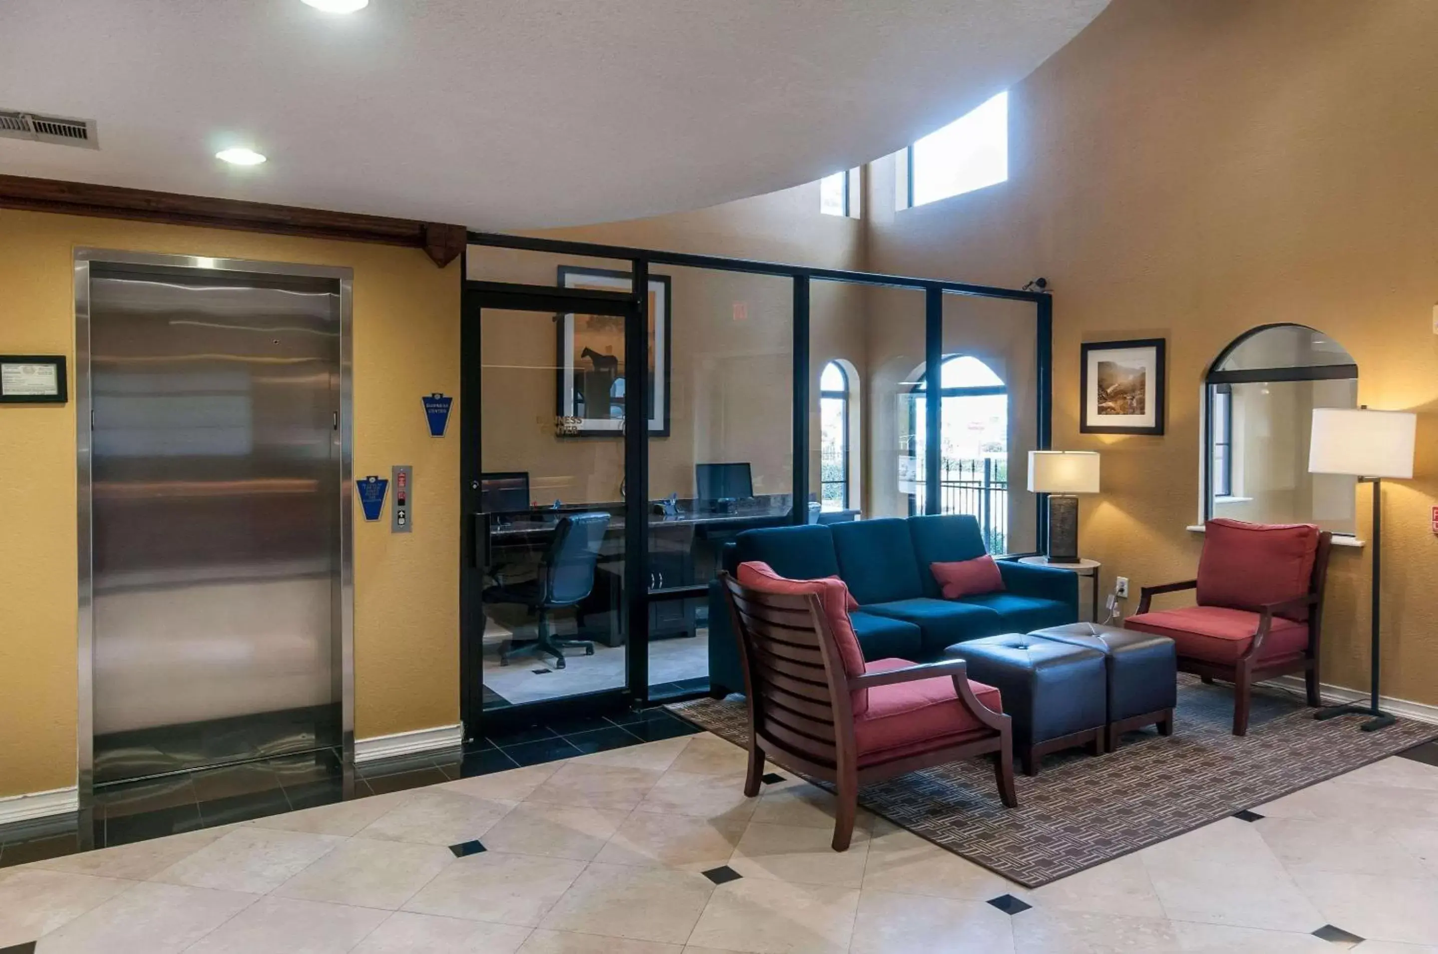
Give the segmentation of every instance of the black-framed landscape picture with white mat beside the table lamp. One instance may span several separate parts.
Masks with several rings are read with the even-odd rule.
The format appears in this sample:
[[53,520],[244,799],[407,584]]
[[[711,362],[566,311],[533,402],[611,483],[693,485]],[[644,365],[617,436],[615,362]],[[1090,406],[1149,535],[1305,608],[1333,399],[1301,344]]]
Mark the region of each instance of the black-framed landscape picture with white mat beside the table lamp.
[[1163,346],[1162,338],[1081,345],[1081,434],[1163,434]]

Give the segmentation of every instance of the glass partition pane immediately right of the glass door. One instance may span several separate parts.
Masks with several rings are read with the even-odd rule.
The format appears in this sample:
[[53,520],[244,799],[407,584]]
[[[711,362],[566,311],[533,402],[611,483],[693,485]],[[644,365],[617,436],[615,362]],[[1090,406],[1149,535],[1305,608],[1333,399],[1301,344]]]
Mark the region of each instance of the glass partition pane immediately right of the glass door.
[[791,523],[794,282],[654,266],[673,309],[666,427],[649,434],[649,697],[709,688],[723,545]]

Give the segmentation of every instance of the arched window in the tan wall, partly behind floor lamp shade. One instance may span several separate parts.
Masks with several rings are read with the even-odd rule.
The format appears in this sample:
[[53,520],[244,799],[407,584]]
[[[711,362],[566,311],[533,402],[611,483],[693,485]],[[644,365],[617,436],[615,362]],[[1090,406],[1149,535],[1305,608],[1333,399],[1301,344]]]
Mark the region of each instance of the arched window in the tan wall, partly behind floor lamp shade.
[[1353,533],[1353,477],[1309,473],[1313,408],[1357,407],[1357,363],[1306,325],[1234,339],[1204,384],[1204,517]]

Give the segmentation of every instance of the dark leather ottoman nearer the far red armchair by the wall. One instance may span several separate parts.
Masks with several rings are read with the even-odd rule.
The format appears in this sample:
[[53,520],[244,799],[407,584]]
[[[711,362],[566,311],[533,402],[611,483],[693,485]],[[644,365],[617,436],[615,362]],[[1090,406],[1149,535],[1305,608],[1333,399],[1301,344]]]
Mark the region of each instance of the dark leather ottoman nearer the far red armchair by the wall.
[[1094,622],[1035,629],[1031,635],[1097,649],[1109,658],[1109,751],[1119,747],[1119,736],[1135,728],[1156,724],[1160,736],[1173,733],[1178,659],[1172,639]]

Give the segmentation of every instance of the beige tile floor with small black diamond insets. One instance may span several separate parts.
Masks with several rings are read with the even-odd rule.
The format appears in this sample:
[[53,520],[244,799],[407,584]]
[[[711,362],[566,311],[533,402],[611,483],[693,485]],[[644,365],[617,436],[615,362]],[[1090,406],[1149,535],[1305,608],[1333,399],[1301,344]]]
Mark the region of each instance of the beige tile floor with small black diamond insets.
[[[689,736],[0,869],[0,948],[1438,954],[1438,767],[1416,761],[1034,891],[867,813],[835,855],[825,793],[745,799],[742,772]],[[454,858],[467,839],[487,851]],[[716,886],[720,865],[742,878]]]

